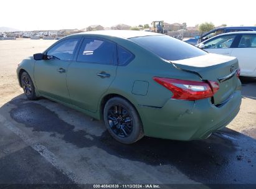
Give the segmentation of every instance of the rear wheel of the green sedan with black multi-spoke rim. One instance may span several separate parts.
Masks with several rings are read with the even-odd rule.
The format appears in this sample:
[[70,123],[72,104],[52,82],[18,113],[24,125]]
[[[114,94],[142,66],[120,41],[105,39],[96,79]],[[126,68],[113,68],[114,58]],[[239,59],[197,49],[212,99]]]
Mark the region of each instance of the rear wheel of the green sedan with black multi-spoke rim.
[[139,114],[123,98],[109,99],[104,107],[103,118],[108,132],[118,142],[132,144],[144,136]]

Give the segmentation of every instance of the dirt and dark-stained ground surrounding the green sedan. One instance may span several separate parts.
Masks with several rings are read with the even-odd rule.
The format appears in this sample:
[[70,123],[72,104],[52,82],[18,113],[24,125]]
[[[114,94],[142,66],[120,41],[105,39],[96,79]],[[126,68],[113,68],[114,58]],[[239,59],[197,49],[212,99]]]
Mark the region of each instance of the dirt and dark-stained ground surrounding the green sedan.
[[242,78],[240,113],[209,139],[123,145],[100,121],[48,99],[27,101],[17,63],[54,42],[0,41],[0,184],[256,184],[256,80]]

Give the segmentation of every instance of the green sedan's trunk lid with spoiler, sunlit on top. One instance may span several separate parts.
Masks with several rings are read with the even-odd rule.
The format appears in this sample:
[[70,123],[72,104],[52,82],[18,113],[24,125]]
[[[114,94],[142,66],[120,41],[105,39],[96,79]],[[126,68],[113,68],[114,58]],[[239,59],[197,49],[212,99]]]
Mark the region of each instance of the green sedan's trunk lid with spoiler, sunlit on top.
[[219,91],[214,94],[214,104],[221,104],[237,87],[236,70],[239,69],[237,58],[223,55],[207,54],[184,60],[171,61],[174,67],[195,73],[202,80],[219,83]]

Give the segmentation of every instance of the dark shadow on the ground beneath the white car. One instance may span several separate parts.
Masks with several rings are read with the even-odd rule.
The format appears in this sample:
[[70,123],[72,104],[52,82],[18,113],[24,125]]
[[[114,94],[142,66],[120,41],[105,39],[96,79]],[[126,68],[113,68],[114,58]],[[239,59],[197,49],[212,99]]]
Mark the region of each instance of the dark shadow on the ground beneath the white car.
[[242,96],[256,99],[256,78],[240,76],[240,81],[242,83]]

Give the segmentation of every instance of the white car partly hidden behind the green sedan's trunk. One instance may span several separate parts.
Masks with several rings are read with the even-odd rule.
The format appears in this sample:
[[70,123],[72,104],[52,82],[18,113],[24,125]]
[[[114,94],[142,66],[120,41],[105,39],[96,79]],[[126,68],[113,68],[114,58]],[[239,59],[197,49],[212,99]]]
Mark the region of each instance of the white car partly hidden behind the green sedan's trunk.
[[256,77],[256,32],[231,32],[205,40],[196,47],[210,53],[237,57],[240,76]]

